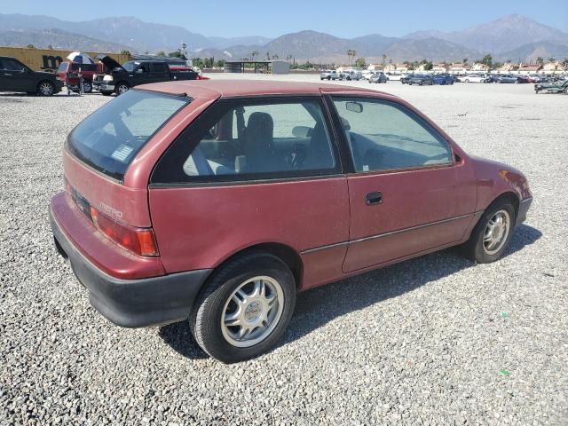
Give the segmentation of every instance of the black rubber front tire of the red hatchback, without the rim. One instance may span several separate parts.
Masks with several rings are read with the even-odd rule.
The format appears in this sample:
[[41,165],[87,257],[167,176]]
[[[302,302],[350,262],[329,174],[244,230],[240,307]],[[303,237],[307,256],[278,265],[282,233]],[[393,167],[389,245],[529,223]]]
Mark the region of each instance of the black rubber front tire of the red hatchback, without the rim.
[[[501,215],[508,221],[506,234],[501,235],[501,240],[496,243],[494,247],[487,247],[490,242],[485,241],[487,237],[490,221],[495,217]],[[461,255],[471,260],[476,261],[478,264],[490,264],[498,260],[503,252],[509,246],[509,242],[515,230],[515,208],[506,200],[497,200],[485,209],[482,217],[479,218],[476,227],[471,232],[469,241],[461,246]],[[499,233],[499,230],[498,230]],[[491,235],[491,234],[490,234]]]

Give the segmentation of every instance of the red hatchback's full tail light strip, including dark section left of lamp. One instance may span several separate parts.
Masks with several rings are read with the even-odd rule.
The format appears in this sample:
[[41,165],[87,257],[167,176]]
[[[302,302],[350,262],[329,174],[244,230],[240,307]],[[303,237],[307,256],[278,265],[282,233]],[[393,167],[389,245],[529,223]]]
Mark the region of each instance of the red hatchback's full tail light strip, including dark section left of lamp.
[[64,185],[67,193],[69,193],[73,201],[75,201],[75,205],[81,209],[85,216],[91,219],[93,225],[109,239],[139,256],[160,256],[152,228],[136,228],[117,222],[112,217],[108,217],[98,209],[92,207],[89,201],[83,198],[83,195],[77,193],[75,188],[69,185],[67,179],[65,179]]

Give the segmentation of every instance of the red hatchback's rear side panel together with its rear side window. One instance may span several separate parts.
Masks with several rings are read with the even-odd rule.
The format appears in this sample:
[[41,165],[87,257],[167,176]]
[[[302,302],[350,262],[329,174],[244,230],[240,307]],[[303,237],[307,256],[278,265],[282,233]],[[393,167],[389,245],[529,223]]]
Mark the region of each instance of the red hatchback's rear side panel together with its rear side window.
[[151,177],[166,270],[212,267],[243,248],[278,244],[302,256],[311,285],[340,277],[349,194],[333,135],[321,96],[209,106]]

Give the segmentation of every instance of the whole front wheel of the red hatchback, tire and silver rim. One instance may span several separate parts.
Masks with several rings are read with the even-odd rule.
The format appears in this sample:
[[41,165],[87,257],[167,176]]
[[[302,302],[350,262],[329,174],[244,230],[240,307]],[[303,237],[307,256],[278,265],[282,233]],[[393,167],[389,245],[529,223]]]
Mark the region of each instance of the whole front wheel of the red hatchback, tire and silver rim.
[[509,201],[493,202],[477,222],[469,241],[461,247],[463,256],[478,264],[498,260],[509,246],[515,218],[515,208]]

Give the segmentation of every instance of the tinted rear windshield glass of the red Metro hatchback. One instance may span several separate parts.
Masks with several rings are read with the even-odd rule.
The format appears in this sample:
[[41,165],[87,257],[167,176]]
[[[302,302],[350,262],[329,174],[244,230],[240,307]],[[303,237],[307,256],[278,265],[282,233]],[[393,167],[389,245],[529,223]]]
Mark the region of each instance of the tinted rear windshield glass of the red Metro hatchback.
[[138,151],[190,99],[150,91],[127,91],[81,122],[67,139],[79,160],[122,180]]

